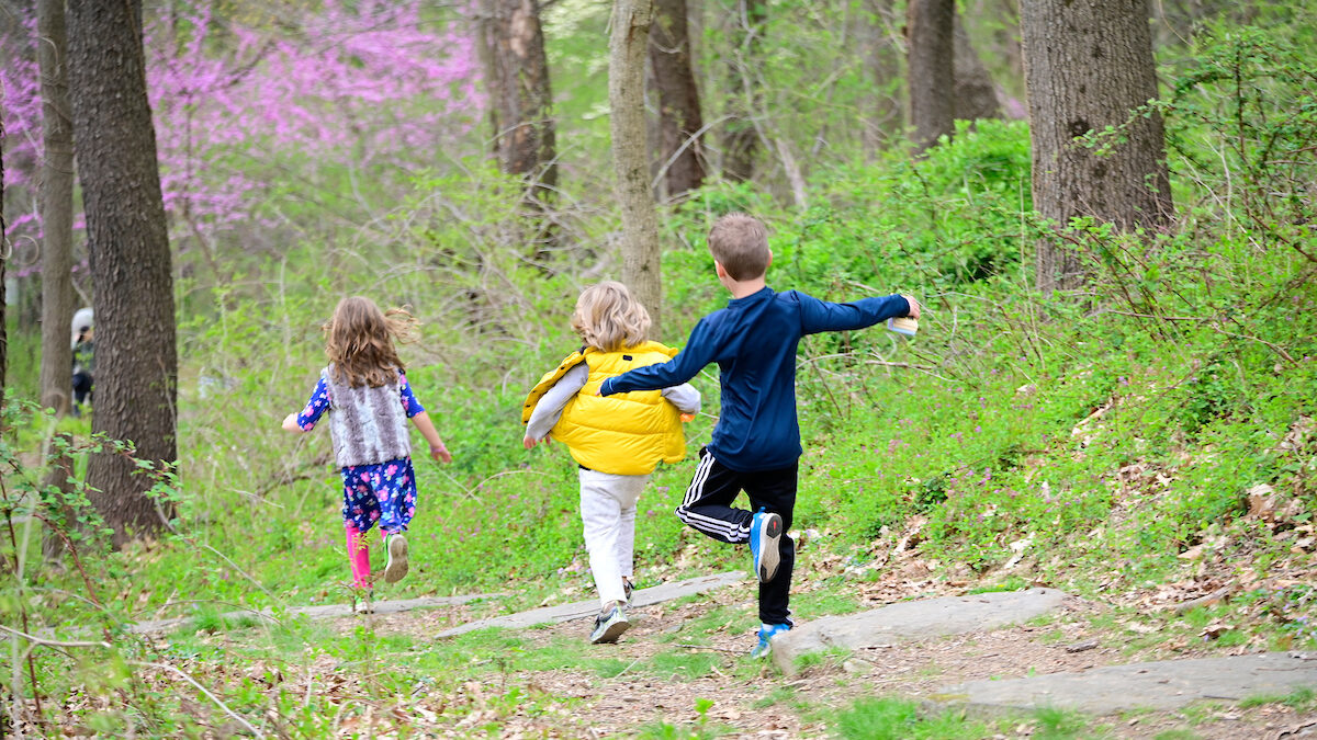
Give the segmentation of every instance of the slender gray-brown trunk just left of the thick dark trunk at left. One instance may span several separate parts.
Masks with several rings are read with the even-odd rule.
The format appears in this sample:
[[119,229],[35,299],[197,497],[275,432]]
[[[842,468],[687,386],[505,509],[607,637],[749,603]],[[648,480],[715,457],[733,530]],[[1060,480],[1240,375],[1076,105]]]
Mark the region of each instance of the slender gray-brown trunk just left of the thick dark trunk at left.
[[68,413],[72,395],[74,133],[68,117],[65,0],[37,3],[41,66],[41,404]]

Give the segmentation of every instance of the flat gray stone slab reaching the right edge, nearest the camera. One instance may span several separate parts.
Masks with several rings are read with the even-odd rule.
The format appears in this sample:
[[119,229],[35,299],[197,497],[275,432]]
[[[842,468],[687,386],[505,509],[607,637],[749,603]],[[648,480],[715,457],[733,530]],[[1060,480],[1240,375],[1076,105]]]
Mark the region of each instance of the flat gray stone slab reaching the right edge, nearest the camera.
[[1191,702],[1239,702],[1317,689],[1317,653],[1260,653],[1158,661],[1006,681],[969,681],[931,697],[973,710],[1076,710],[1094,715],[1173,710]]

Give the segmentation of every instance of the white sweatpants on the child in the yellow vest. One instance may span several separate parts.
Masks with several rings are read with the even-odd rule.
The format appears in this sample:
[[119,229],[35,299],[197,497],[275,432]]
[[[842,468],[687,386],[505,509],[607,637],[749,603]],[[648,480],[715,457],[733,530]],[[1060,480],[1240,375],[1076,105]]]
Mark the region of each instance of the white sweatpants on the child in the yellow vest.
[[649,475],[614,475],[581,469],[581,523],[599,606],[626,600],[636,541],[636,502]]

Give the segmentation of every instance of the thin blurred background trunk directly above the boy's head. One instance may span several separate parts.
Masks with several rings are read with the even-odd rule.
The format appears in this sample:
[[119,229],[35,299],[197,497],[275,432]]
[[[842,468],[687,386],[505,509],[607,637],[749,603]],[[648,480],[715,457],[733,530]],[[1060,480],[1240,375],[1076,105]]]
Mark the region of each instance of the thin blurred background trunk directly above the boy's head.
[[738,28],[744,34],[731,54],[727,124],[723,126],[723,176],[743,183],[755,174],[759,130],[755,116],[763,108],[756,70],[768,9],[764,0],[738,0]]

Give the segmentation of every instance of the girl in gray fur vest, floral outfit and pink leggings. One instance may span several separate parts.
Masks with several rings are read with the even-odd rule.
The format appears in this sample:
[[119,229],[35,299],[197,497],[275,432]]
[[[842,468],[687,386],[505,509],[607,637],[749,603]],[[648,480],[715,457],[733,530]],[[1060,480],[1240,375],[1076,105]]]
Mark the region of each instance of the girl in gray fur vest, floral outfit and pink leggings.
[[416,514],[416,473],[411,461],[407,419],[429,442],[435,461],[452,462],[435,424],[412,395],[394,340],[408,341],[416,320],[402,308],[382,312],[367,298],[338,302],[325,325],[329,365],[300,413],[290,413],[283,428],[309,432],[329,412],[329,437],[342,467],[342,521],[348,565],[357,593],[366,591],[370,606],[370,548],[366,532],[375,524],[389,562],[385,582],[394,583],[408,570],[407,532]]

